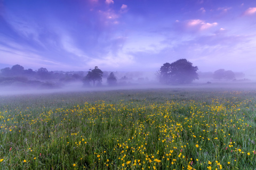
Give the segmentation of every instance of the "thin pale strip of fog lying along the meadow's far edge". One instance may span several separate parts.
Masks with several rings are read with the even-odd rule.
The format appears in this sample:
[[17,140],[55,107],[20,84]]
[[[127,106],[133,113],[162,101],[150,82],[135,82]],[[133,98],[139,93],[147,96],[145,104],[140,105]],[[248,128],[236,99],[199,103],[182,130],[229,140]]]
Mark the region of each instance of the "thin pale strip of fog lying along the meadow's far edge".
[[79,92],[79,91],[104,91],[104,90],[132,90],[132,89],[230,89],[230,90],[256,90],[255,81],[234,82],[234,81],[202,81],[197,80],[190,84],[164,85],[159,82],[130,83],[122,86],[84,87],[82,82],[67,83],[58,88],[33,88],[33,87],[0,87],[0,96],[22,95],[22,94],[51,94],[58,92]]

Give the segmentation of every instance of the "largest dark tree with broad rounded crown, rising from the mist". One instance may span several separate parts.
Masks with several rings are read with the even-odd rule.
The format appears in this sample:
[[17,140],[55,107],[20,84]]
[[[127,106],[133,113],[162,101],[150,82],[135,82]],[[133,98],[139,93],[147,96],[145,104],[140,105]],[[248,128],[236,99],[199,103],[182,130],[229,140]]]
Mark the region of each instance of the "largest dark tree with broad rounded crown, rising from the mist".
[[165,63],[158,71],[159,81],[165,84],[185,84],[198,79],[197,66],[186,59]]

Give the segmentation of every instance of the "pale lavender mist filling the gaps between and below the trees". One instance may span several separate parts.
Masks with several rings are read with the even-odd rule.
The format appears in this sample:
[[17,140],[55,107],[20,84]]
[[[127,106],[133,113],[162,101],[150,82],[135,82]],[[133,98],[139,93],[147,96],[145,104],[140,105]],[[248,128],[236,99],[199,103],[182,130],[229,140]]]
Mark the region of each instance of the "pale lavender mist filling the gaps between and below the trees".
[[[162,84],[158,81],[155,72],[114,72],[117,78],[115,86],[107,84],[107,78],[102,78],[100,86],[85,87],[82,81],[61,82],[60,80],[37,80],[42,84],[35,86],[13,83],[10,86],[0,86],[0,96],[15,96],[28,94],[53,94],[65,92],[90,92],[90,91],[110,91],[110,90],[143,90],[143,89],[205,89],[205,90],[252,90],[256,87],[255,77],[243,77],[236,80],[214,80],[212,76],[207,77],[204,73],[199,73],[199,79],[189,84]],[[212,75],[212,73],[205,73]],[[201,78],[200,78],[201,75]],[[202,76],[203,75],[203,76]],[[125,77],[125,79],[124,79]],[[46,85],[47,86],[46,86]],[[49,85],[50,84],[50,85]],[[57,84],[57,85],[56,85]]]

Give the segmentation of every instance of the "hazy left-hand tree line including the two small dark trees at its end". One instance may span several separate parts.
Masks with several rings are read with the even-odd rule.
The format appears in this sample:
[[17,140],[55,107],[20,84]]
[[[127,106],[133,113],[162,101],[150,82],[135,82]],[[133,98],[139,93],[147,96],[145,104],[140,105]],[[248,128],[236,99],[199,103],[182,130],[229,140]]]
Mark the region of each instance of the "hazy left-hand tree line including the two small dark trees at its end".
[[[95,66],[89,72],[63,72],[63,71],[48,71],[41,67],[38,70],[27,69],[16,64],[12,67],[5,67],[0,70],[0,86],[40,86],[45,88],[59,88],[63,83],[83,81],[84,86],[100,86],[102,82],[103,72]],[[86,75],[87,73],[87,75]],[[105,72],[106,74],[106,72]],[[105,75],[106,77],[106,75]],[[113,72],[107,77],[109,86],[116,86],[117,79]]]

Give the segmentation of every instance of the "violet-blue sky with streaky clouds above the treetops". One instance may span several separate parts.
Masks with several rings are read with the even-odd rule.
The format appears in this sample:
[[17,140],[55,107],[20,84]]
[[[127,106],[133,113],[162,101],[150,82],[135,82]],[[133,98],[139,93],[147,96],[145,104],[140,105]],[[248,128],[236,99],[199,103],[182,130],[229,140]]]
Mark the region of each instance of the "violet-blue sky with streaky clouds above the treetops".
[[[0,0],[0,68],[255,71],[255,0]],[[256,71],[255,71],[256,72]]]

